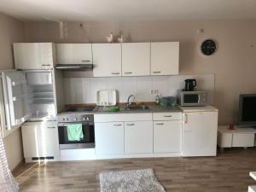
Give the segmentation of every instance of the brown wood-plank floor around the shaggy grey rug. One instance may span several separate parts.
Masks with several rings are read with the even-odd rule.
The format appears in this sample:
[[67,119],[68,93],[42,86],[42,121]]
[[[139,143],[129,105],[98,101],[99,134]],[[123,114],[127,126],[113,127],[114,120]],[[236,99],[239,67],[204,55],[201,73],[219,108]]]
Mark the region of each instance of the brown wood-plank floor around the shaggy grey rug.
[[248,185],[256,184],[249,177],[249,172],[256,171],[256,148],[230,149],[207,158],[69,161],[33,167],[25,164],[15,177],[23,192],[97,192],[100,172],[144,168],[154,169],[166,192],[246,192]]

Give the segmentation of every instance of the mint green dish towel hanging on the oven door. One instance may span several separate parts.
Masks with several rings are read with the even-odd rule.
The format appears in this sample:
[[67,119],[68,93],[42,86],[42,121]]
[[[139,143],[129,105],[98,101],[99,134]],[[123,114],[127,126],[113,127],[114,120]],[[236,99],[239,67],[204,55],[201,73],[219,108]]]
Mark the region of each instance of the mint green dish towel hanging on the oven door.
[[67,125],[67,138],[69,142],[80,141],[84,138],[82,124]]

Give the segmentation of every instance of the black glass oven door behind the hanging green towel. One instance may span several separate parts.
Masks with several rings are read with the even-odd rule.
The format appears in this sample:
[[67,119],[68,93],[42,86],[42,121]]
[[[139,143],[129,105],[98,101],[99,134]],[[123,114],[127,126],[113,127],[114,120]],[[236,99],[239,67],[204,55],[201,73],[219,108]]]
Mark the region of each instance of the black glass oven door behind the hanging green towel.
[[[95,132],[93,123],[81,123],[84,137],[79,141],[70,141],[67,136],[67,125],[72,123],[59,123],[59,144],[60,149],[74,148],[95,148]],[[75,124],[79,124],[76,122]]]

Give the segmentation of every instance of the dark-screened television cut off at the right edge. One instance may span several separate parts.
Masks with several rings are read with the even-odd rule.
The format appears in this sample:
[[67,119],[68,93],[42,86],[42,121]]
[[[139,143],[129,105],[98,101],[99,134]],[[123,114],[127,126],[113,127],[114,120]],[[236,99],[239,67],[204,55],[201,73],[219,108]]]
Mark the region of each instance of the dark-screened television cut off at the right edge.
[[238,126],[256,127],[256,94],[240,95]]

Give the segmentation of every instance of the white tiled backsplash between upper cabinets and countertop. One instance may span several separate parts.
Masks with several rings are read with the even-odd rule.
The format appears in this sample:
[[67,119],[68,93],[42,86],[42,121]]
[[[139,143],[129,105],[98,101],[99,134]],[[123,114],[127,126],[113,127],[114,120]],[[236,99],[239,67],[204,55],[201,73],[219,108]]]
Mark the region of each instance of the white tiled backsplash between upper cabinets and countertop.
[[95,103],[97,90],[117,90],[118,102],[126,102],[128,96],[136,96],[137,102],[154,102],[158,90],[160,96],[177,96],[183,89],[184,79],[196,79],[198,90],[208,91],[208,102],[213,102],[214,75],[175,75],[115,78],[65,78],[65,100],[67,104]]

